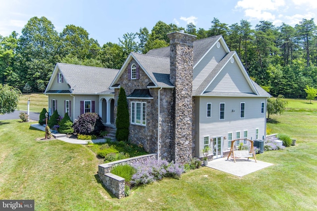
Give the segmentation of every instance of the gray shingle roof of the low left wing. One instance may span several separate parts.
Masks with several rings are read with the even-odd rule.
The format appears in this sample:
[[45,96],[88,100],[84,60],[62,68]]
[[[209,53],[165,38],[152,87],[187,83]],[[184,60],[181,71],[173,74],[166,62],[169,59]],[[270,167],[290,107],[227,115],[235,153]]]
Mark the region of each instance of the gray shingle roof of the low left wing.
[[[74,94],[111,93],[109,86],[119,70],[57,63]],[[110,91],[110,92],[108,92]]]

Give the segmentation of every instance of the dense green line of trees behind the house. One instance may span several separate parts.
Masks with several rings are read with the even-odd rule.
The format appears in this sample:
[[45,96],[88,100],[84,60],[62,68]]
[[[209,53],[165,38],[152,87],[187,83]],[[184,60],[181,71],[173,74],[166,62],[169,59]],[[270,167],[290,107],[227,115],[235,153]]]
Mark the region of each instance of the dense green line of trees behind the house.
[[184,30],[197,39],[222,35],[235,50],[250,77],[273,96],[305,98],[305,87],[317,87],[317,27],[303,19],[294,27],[247,20],[228,25],[217,18],[209,29],[192,23],[186,28],[158,21],[151,32],[126,33],[118,43],[101,46],[82,27],[66,25],[58,33],[46,17],[32,17],[22,29],[0,35],[0,84],[20,90],[43,91],[56,62],[120,69],[131,51],[146,53],[169,45],[167,33]]

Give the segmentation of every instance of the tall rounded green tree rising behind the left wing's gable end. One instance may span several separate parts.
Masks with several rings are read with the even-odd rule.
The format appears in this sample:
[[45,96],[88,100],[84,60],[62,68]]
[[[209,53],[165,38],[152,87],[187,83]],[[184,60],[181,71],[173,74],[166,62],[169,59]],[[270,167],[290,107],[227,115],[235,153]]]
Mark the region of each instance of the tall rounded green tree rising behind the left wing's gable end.
[[54,25],[46,17],[33,17],[28,21],[18,40],[22,84],[28,82],[34,88],[37,80],[48,83],[56,63],[58,39]]

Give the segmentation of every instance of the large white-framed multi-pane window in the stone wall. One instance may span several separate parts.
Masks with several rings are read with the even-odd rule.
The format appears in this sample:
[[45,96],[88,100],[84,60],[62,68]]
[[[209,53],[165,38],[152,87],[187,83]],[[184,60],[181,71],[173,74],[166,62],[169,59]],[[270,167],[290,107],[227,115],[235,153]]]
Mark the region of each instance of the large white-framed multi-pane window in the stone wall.
[[131,124],[146,126],[147,123],[147,103],[131,102]]

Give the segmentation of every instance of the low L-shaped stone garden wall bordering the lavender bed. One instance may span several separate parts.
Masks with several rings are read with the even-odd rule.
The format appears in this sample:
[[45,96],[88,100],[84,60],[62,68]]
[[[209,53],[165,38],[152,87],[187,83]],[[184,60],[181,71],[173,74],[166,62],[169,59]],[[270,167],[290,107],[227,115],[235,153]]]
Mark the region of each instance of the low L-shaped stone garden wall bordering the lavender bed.
[[113,166],[123,164],[133,164],[149,158],[157,159],[157,154],[141,155],[134,158],[127,158],[119,161],[113,161],[98,166],[98,175],[105,187],[111,191],[117,198],[121,199],[124,197],[124,185],[125,179],[110,173]]

